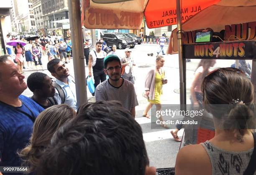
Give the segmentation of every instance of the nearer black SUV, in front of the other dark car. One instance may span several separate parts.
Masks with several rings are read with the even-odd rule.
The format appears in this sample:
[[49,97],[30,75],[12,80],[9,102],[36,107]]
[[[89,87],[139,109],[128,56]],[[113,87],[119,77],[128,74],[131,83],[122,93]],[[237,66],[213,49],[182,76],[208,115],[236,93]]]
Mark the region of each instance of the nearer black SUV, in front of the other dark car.
[[123,33],[104,33],[103,40],[108,46],[116,45],[118,49],[124,49],[126,47],[134,48],[136,43],[133,39],[126,37]]

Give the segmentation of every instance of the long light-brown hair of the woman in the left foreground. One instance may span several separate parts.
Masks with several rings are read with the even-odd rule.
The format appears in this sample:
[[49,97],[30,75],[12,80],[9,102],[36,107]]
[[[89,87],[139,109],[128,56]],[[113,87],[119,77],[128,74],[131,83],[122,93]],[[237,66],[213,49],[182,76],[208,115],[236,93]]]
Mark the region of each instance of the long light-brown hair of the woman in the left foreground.
[[71,120],[76,112],[69,105],[54,105],[38,115],[33,126],[29,145],[20,151],[22,166],[28,166],[28,173],[36,174],[41,156],[48,147],[54,132],[64,123]]

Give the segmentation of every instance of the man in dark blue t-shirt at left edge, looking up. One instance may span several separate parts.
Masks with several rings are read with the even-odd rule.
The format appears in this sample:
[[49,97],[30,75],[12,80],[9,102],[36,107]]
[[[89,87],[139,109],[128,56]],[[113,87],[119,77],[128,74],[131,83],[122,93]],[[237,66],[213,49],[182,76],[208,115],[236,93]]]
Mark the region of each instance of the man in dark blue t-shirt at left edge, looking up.
[[28,144],[33,122],[44,108],[21,95],[27,88],[25,77],[8,57],[0,56],[0,166],[20,166],[17,152]]

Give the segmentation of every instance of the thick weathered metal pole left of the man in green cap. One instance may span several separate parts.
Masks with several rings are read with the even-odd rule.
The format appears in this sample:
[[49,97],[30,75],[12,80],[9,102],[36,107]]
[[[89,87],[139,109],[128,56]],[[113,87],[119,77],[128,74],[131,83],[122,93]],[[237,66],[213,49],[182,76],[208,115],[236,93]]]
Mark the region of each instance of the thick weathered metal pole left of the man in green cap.
[[82,41],[82,26],[80,13],[80,0],[68,0],[69,23],[73,47],[73,65],[76,82],[77,106],[87,102],[85,82],[84,47]]

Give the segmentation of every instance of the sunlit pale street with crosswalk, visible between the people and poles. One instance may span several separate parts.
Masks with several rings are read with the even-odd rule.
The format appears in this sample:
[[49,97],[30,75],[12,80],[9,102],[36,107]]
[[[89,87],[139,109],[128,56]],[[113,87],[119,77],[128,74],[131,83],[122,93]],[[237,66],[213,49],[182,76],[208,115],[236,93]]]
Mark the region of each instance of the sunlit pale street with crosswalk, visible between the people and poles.
[[[164,46],[166,51],[167,45]],[[146,144],[148,157],[151,166],[156,168],[170,168],[174,167],[176,156],[179,150],[180,143],[175,142],[170,134],[171,129],[151,129],[151,119],[142,117],[143,110],[148,104],[147,100],[142,96],[144,90],[145,77],[149,70],[154,69],[156,52],[159,50],[159,45],[154,44],[141,44],[136,45],[135,48],[131,49],[131,57],[133,57],[136,66],[134,67],[135,72],[135,90],[137,93],[137,98],[139,106],[136,107],[136,121],[141,125],[143,130],[143,139]],[[124,50],[117,50],[118,54],[124,54]],[[154,56],[148,56],[147,53],[153,53]],[[163,69],[166,71],[166,79],[168,83],[163,85],[163,95],[161,97],[162,104],[179,104],[179,62],[178,55],[164,55],[165,64]],[[42,58],[44,73],[51,74],[46,68],[48,62],[47,57]],[[192,83],[194,77],[194,71],[197,68],[198,62],[200,60],[192,60],[187,62],[187,104],[190,103],[190,92],[189,87]],[[217,60],[215,67],[230,67],[234,60]],[[250,64],[251,62],[248,61]],[[67,64],[71,75],[74,75],[73,62]],[[25,69],[24,74],[26,79],[32,73],[35,72],[31,69]],[[41,71],[41,70],[40,70]],[[88,75],[88,67],[85,67],[86,75]],[[31,96],[32,92],[26,89],[23,95]],[[88,97],[92,97],[87,88]],[[150,115],[150,114],[149,114]],[[179,131],[178,136],[181,138],[183,130]],[[183,144],[182,144],[183,145]]]

